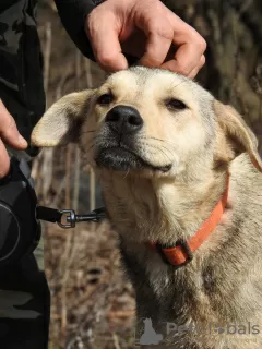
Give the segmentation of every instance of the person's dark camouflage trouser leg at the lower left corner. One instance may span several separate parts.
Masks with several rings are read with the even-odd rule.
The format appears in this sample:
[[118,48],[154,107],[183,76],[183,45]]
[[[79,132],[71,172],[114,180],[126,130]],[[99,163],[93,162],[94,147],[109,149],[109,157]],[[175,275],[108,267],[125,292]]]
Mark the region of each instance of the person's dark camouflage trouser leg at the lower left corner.
[[0,275],[1,349],[47,349],[50,296],[43,239],[20,265]]

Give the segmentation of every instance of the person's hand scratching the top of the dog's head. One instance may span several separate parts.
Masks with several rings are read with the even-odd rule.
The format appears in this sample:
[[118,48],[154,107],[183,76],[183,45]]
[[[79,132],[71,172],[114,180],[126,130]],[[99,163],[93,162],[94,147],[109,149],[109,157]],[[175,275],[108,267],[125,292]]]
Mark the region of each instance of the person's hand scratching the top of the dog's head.
[[106,71],[127,69],[124,53],[189,77],[205,63],[205,40],[159,0],[107,0],[87,16],[85,29]]

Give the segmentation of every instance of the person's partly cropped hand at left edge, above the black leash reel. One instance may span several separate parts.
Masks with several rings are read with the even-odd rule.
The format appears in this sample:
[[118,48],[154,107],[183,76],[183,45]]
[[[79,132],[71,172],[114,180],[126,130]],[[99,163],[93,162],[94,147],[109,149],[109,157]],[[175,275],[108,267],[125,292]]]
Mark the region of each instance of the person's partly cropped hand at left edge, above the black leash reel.
[[25,149],[27,142],[19,133],[14,119],[0,99],[0,178],[9,172],[10,159],[4,143],[15,149]]

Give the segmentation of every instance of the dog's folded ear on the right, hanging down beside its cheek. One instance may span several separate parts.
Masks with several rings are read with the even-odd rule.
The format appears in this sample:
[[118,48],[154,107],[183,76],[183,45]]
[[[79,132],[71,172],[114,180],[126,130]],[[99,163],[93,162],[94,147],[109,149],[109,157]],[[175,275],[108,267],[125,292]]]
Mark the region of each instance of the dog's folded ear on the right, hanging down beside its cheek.
[[258,140],[242,117],[231,106],[214,101],[214,111],[218,125],[234,153],[234,157],[247,152],[252,164],[262,172],[262,161],[258,153]]

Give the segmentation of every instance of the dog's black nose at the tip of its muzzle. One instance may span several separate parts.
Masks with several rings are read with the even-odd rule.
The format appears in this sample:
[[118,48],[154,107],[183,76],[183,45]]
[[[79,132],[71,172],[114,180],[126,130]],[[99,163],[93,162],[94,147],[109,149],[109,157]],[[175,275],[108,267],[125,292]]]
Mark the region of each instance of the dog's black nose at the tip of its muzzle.
[[106,116],[107,124],[119,133],[138,132],[143,125],[139,111],[129,106],[116,106]]

